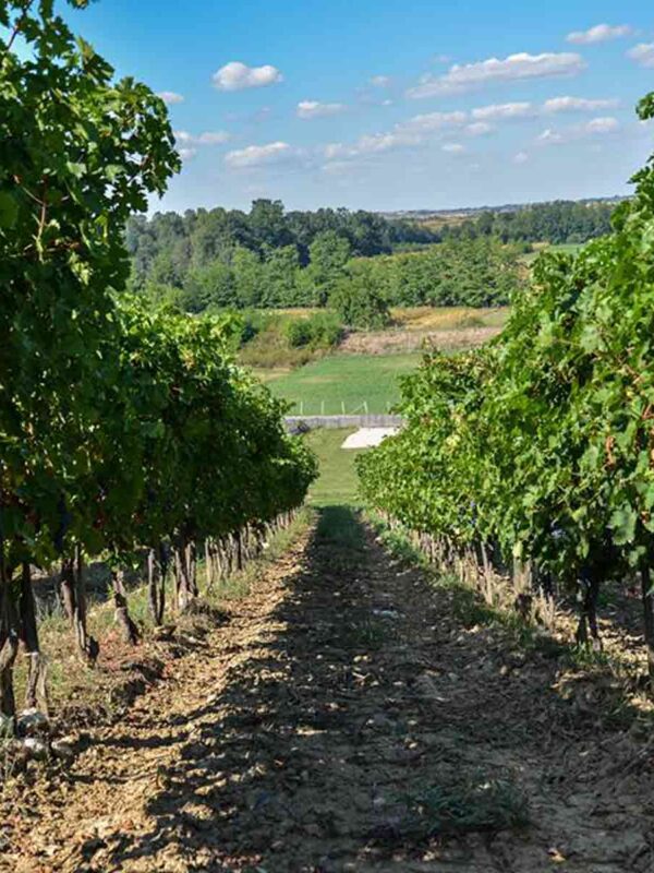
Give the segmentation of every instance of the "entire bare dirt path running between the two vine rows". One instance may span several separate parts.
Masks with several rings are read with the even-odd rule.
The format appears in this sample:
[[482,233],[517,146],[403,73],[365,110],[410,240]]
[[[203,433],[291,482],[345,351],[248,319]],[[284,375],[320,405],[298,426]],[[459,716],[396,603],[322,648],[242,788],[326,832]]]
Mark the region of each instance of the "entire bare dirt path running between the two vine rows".
[[[564,701],[550,653],[467,627],[451,591],[347,514],[325,511],[68,781],[16,810],[0,869],[654,869],[649,748]],[[452,815],[472,833],[434,837]]]

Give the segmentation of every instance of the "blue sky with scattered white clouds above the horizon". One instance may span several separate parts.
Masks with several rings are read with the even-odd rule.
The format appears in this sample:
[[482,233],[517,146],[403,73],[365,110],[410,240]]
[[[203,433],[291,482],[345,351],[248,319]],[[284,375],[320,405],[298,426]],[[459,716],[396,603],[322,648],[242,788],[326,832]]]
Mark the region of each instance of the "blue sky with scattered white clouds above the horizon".
[[651,0],[99,0],[73,26],[169,101],[155,208],[450,208],[626,193]]

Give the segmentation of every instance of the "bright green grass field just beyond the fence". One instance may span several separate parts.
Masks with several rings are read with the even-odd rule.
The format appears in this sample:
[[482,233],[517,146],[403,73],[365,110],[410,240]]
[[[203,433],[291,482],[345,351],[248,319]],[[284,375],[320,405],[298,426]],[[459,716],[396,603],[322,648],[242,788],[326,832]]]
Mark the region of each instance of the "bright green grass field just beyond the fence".
[[334,355],[268,385],[300,415],[387,412],[400,397],[398,376],[414,370],[421,357],[420,352]]

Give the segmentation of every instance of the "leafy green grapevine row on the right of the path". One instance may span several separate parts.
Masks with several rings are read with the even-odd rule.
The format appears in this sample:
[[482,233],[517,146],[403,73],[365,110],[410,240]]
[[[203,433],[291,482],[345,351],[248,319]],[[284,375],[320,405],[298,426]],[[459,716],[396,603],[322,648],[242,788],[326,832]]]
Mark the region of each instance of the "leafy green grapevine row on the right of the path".
[[407,427],[359,464],[368,501],[485,595],[528,570],[519,608],[574,593],[580,643],[601,646],[601,586],[640,584],[654,679],[654,157],[633,181],[609,236],[541,256],[495,344],[425,358]]

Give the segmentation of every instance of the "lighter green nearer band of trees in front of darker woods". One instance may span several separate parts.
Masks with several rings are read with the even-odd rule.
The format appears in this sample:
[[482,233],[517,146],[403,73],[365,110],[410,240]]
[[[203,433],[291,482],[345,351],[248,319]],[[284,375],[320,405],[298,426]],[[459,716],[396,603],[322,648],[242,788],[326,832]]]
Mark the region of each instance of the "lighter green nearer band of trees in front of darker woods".
[[[347,240],[319,234],[301,266],[292,247],[270,249],[262,259],[238,248],[226,260],[191,267],[181,285],[147,280],[138,294],[180,311],[330,307],[343,310],[355,294],[392,306],[491,307],[509,302],[525,278],[519,249],[495,239],[448,240],[417,252],[352,258]],[[362,301],[358,311],[367,307]],[[349,311],[353,311],[347,303]],[[361,318],[353,326],[370,326]]]

